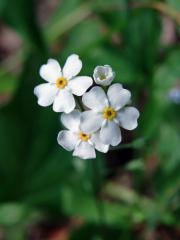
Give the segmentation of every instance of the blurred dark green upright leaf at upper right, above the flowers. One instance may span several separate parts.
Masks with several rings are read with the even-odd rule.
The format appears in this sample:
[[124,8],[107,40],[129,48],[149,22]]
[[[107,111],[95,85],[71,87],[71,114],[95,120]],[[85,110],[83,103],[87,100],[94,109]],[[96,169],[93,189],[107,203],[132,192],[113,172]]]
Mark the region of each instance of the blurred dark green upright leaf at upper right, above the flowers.
[[126,56],[145,74],[144,84],[151,78],[158,57],[160,19],[153,10],[137,9],[129,12],[129,21],[123,32]]

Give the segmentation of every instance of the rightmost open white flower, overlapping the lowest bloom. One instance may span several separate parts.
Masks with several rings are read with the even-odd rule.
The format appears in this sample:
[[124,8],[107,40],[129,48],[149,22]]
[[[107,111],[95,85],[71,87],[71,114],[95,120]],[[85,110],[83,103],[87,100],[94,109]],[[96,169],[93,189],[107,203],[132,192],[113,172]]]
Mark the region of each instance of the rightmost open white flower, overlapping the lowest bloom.
[[118,145],[120,126],[127,130],[137,127],[138,110],[124,107],[130,98],[130,92],[118,83],[109,87],[107,95],[101,87],[93,87],[83,95],[82,101],[90,110],[82,113],[82,131],[88,134],[100,129],[100,140],[104,144]]

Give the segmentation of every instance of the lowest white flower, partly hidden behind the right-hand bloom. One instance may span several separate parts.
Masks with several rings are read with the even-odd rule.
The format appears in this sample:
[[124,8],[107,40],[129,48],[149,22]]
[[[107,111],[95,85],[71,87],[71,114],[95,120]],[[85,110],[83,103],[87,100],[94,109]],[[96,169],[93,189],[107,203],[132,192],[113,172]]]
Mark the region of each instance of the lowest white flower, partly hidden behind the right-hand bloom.
[[85,134],[82,132],[81,114],[79,110],[74,110],[69,114],[61,115],[61,121],[68,130],[59,132],[58,143],[66,150],[73,151],[73,156],[82,159],[95,158],[95,149],[106,153],[109,146],[100,142],[98,133]]

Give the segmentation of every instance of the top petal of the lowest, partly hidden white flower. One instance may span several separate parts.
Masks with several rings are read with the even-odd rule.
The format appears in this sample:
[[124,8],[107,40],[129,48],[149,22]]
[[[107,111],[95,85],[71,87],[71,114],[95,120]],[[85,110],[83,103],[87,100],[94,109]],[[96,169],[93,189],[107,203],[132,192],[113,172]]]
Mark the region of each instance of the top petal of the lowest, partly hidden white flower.
[[61,115],[61,122],[71,131],[78,132],[80,125],[81,113],[79,110],[74,110],[69,114],[63,113]]

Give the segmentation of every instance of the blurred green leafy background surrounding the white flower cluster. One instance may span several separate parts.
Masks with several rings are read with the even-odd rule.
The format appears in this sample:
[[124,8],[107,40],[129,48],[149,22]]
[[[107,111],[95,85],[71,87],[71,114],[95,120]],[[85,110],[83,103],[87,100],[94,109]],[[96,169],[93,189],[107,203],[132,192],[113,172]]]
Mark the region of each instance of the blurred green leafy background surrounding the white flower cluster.
[[[180,239],[180,1],[0,0],[0,239]],[[49,57],[109,64],[141,113],[83,161],[33,88]]]

